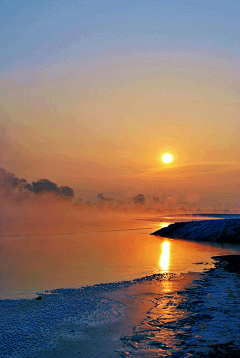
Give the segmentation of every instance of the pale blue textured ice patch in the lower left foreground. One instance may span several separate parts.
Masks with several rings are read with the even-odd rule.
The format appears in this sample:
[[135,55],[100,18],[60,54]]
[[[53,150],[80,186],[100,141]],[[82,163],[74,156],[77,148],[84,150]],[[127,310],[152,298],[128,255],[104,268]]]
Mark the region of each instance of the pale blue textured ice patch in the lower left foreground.
[[0,357],[41,357],[60,339],[83,339],[83,326],[98,326],[123,314],[124,306],[90,290],[58,290],[41,300],[0,301]]

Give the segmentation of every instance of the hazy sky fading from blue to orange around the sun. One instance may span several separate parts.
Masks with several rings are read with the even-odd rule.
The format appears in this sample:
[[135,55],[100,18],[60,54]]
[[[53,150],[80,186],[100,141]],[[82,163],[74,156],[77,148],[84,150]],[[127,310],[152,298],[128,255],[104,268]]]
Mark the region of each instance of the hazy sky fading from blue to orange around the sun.
[[0,167],[86,199],[239,205],[239,18],[239,0],[0,0]]

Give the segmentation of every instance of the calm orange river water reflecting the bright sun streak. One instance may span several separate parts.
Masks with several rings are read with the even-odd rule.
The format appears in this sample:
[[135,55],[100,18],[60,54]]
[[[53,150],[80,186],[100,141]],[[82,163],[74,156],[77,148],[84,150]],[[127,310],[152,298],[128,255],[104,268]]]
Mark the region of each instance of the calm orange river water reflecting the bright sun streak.
[[[175,217],[174,221],[183,219]],[[158,272],[200,272],[213,265],[211,256],[240,252],[239,245],[150,235],[168,221],[171,218],[147,218],[137,222],[136,230],[108,228],[101,232],[1,237],[0,298],[28,298],[55,288],[129,280]]]

